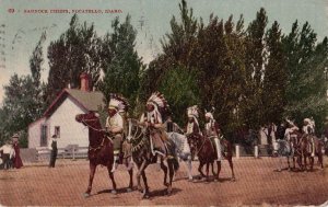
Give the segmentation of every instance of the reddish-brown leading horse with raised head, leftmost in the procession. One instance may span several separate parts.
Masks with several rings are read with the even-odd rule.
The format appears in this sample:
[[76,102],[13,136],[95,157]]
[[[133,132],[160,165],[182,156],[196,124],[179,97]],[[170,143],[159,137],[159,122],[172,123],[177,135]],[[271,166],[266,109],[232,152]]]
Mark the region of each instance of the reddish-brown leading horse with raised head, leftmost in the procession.
[[[110,172],[112,166],[114,164],[114,150],[112,140],[107,138],[105,130],[102,129],[99,118],[96,116],[95,113],[91,112],[87,114],[79,114],[75,116],[75,119],[77,122],[82,123],[84,126],[89,127],[87,158],[90,160],[90,179],[89,186],[86,192],[84,193],[84,196],[90,196],[94,173],[98,164],[102,164],[107,168],[109,177],[113,183],[112,193],[116,194],[116,183],[114,180],[114,173]],[[132,191],[133,187],[132,169],[129,170],[129,175],[130,184],[127,189],[128,192]]]

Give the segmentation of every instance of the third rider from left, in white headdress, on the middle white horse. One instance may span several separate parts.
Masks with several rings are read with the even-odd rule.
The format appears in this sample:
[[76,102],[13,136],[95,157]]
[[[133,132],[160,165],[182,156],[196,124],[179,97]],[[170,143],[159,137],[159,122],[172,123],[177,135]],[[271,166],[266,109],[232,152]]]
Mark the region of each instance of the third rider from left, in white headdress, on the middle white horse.
[[198,106],[194,105],[187,108],[188,124],[186,126],[186,136],[200,135],[198,124]]

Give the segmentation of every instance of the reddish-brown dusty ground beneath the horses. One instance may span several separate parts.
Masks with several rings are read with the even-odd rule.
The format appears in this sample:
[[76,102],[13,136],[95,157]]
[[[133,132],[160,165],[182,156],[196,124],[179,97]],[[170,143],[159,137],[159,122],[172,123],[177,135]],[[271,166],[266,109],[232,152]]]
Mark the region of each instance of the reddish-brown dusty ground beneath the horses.
[[[56,169],[46,163],[26,165],[20,170],[0,171],[0,204],[5,206],[122,206],[122,205],[319,205],[328,200],[328,161],[325,170],[315,172],[274,172],[278,159],[234,159],[236,182],[229,179],[231,172],[223,162],[221,182],[195,183],[185,180],[181,168],[174,182],[171,196],[163,196],[162,171],[156,165],[147,170],[152,197],[142,200],[141,193],[126,193],[128,174],[120,166],[115,174],[119,188],[110,194],[112,185],[105,168],[98,166],[92,196],[84,198],[89,180],[86,160],[59,160]],[[198,162],[194,163],[194,173]]]

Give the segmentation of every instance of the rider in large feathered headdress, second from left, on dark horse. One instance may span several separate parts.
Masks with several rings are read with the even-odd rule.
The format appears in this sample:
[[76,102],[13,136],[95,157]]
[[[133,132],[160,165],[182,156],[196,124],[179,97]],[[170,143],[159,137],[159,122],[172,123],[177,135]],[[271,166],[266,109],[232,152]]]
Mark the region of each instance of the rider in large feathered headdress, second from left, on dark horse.
[[168,104],[160,92],[153,93],[147,101],[147,113],[142,114],[140,123],[148,127],[151,137],[152,153],[165,156],[167,153],[165,142],[167,141],[164,131],[164,113]]

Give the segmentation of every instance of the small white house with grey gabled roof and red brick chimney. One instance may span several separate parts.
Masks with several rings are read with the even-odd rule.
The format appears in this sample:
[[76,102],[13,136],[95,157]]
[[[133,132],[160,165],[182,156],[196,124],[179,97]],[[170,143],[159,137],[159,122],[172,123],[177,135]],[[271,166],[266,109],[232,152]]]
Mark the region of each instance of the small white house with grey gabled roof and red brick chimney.
[[102,92],[90,90],[90,78],[82,73],[81,89],[63,89],[44,116],[28,126],[28,148],[47,147],[52,135],[57,135],[57,147],[68,145],[89,146],[89,129],[75,120],[77,114],[96,112],[104,106]]

